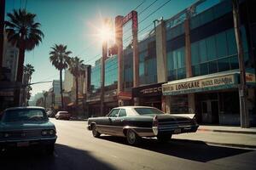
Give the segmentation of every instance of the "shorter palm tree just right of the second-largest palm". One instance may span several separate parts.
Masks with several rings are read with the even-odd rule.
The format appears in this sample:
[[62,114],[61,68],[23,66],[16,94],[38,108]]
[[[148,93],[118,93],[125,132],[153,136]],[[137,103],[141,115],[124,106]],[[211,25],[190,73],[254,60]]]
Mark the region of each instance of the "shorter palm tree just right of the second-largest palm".
[[80,60],[79,57],[72,57],[68,61],[69,68],[73,77],[75,77],[76,82],[76,105],[79,105],[79,77],[83,74],[84,71],[84,60]]

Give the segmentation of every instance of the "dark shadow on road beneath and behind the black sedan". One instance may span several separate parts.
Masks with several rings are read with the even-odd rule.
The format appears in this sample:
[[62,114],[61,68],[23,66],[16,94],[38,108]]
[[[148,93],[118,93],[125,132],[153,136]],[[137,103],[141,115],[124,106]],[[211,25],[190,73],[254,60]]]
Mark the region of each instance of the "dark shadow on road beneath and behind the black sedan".
[[[126,144],[125,138],[101,136],[100,139]],[[187,139],[172,139],[169,143],[160,143],[156,139],[143,139],[136,147],[151,150],[168,156],[176,156],[192,161],[213,161],[224,157],[236,156],[253,150],[228,148],[224,146],[208,145],[205,142]]]

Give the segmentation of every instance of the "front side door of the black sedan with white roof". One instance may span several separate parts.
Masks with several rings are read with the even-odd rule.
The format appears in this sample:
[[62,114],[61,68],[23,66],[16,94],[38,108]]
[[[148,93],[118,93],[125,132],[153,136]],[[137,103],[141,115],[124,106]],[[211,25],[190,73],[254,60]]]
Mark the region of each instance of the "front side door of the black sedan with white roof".
[[115,120],[116,118],[118,117],[119,115],[119,109],[113,109],[109,115],[108,115],[108,120],[107,120],[107,126],[105,127],[105,130],[108,134],[111,134],[111,135],[115,135],[116,132],[115,132]]

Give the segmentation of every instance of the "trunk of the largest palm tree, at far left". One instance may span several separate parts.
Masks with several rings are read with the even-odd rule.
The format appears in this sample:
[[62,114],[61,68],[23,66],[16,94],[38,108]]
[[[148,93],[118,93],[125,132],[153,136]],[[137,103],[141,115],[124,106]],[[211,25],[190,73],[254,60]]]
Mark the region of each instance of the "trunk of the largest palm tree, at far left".
[[[20,48],[19,48],[19,59],[18,59],[18,68],[17,68],[17,77],[16,77],[16,82],[18,83],[22,83],[24,58],[25,58],[25,44],[24,42],[21,42]],[[19,106],[20,105],[20,87],[18,87],[15,90],[14,98],[15,98],[14,105]]]

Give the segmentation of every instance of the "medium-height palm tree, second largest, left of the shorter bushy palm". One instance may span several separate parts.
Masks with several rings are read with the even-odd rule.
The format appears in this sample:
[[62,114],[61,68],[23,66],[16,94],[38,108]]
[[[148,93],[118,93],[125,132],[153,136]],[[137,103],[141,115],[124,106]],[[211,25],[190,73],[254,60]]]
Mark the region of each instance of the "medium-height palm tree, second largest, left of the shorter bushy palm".
[[72,54],[71,51],[67,51],[67,45],[57,45],[51,48],[52,51],[49,52],[49,60],[52,65],[55,66],[57,70],[60,71],[60,81],[61,81],[61,108],[64,108],[63,101],[63,89],[62,89],[62,71],[67,69],[68,60],[70,59],[69,54]]

